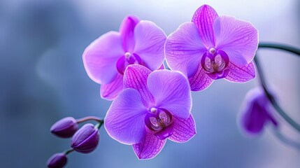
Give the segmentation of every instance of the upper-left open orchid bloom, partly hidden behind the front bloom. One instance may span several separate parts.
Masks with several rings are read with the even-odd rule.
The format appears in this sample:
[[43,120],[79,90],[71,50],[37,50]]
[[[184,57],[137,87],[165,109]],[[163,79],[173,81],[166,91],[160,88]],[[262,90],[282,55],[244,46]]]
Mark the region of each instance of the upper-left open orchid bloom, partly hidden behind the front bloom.
[[129,64],[148,69],[164,68],[166,34],[153,22],[130,15],[120,31],[109,31],[91,43],[83,53],[88,76],[101,84],[101,97],[112,100],[123,90],[123,74]]

